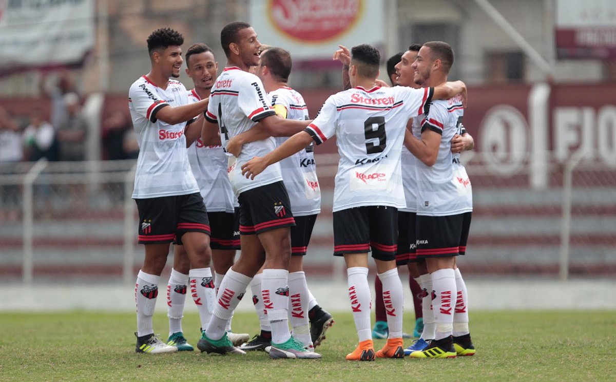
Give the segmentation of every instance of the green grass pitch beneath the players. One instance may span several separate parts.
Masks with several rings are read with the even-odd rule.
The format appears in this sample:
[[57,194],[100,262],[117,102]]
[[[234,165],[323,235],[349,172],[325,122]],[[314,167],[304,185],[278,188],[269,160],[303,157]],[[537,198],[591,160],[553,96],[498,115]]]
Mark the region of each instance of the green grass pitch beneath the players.
[[[411,328],[407,316],[405,327]],[[471,313],[476,356],[376,362],[344,360],[357,335],[351,313],[334,318],[317,348],[321,360],[273,361],[263,352],[136,354],[131,313],[2,313],[0,380],[616,380],[613,311]],[[156,314],[154,327],[166,340],[164,314]],[[185,317],[193,345],[198,327],[196,314]],[[254,314],[233,319],[235,332],[253,335],[257,327]]]

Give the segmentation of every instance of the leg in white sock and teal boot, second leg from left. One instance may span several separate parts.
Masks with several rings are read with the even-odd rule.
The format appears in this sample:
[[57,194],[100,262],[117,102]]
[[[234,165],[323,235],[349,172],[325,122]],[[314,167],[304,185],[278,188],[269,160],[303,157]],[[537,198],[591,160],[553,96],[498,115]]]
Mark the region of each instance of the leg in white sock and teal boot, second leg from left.
[[167,345],[176,346],[178,351],[193,351],[192,345],[184,337],[182,318],[188,290],[188,271],[190,261],[184,246],[174,245],[173,268],[167,284],[167,316],[169,318],[169,338]]

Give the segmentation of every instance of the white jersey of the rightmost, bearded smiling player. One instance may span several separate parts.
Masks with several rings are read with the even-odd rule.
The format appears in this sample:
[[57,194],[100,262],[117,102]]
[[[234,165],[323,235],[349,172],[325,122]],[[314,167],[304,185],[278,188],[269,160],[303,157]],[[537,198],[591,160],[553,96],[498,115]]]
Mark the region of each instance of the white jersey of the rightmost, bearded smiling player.
[[422,123],[442,134],[436,163],[429,167],[417,161],[417,214],[448,216],[472,211],[471,181],[460,163],[460,154],[452,154],[452,138],[462,134],[464,109],[460,96],[434,101]]

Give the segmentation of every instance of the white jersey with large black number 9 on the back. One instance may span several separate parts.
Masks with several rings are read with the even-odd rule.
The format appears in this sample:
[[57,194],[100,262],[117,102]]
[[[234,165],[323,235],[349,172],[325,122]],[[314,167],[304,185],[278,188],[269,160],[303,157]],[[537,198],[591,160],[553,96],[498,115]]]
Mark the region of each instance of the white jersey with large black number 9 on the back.
[[355,87],[325,101],[306,128],[321,144],[334,134],[340,154],[333,211],[359,206],[405,208],[400,152],[408,119],[423,113],[433,88]]

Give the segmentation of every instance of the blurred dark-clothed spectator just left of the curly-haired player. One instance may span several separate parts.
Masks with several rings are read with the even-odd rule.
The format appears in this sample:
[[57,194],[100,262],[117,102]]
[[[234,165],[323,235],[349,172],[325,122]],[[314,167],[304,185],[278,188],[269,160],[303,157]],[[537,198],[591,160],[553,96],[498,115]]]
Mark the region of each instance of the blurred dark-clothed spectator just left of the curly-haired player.
[[108,160],[134,159],[139,145],[126,113],[114,111],[103,121],[103,149]]

